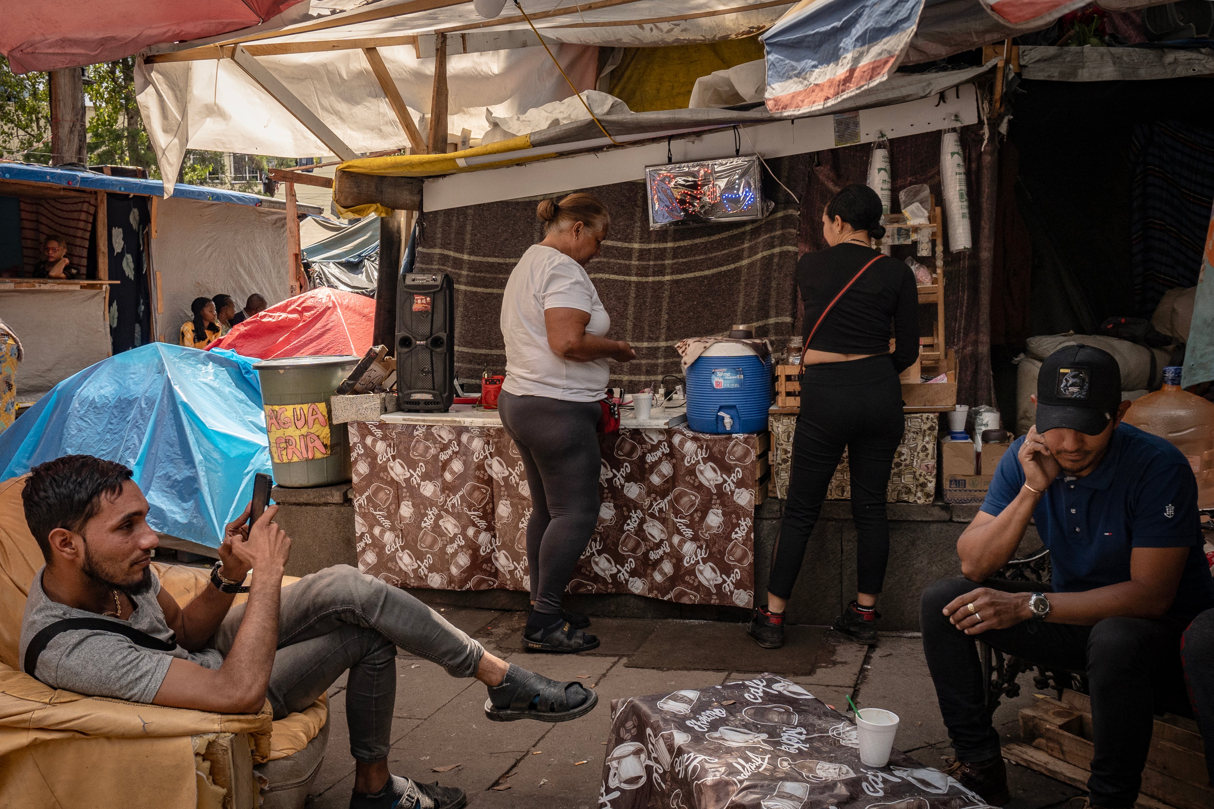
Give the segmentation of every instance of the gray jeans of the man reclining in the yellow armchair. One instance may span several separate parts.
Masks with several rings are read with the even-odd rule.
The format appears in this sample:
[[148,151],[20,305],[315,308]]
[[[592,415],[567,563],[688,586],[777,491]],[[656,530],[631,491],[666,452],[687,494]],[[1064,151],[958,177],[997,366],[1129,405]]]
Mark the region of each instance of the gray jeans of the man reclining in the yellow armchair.
[[[245,605],[233,606],[211,645],[232,649]],[[409,593],[334,565],[283,588],[278,653],[267,699],[274,718],[316,702],[341,673],[346,680],[350,753],[387,758],[396,706],[396,648],[425,657],[452,677],[472,677],[484,649]]]

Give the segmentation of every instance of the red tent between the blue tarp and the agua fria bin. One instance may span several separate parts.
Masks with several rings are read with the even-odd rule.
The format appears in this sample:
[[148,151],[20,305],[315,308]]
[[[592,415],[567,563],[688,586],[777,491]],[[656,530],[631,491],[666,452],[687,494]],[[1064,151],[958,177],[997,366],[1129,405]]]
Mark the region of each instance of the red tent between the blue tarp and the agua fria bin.
[[362,357],[371,347],[374,332],[374,300],[322,286],[237,324],[206,348],[229,348],[257,359],[320,354]]

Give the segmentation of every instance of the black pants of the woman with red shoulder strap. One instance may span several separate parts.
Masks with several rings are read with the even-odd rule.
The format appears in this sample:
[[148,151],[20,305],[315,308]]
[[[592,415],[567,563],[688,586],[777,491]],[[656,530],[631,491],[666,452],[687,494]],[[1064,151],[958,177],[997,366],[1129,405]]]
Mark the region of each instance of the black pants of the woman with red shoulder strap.
[[845,448],[856,523],[856,589],[881,592],[890,556],[885,496],[904,423],[902,384],[889,354],[805,369],[788,502],[767,580],[771,594],[793,594],[805,546]]

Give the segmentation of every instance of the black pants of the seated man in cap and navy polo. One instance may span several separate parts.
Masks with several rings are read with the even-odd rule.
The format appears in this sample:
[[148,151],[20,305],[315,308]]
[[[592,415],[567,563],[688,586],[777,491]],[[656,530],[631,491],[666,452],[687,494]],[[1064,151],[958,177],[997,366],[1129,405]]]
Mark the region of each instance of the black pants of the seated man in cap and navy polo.
[[[986,711],[986,684],[976,639],[999,651],[1055,670],[1085,671],[1091,696],[1091,776],[1094,807],[1129,809],[1138,799],[1151,745],[1153,714],[1190,713],[1180,667],[1180,636],[1187,619],[1112,617],[1095,626],[1025,621],[1006,629],[968,636],[948,622],[943,609],[978,587],[1005,592],[1048,591],[1033,582],[943,579],[919,603],[923,648],[936,699],[960,762],[999,754],[999,734]],[[1153,700],[1152,700],[1153,695]]]

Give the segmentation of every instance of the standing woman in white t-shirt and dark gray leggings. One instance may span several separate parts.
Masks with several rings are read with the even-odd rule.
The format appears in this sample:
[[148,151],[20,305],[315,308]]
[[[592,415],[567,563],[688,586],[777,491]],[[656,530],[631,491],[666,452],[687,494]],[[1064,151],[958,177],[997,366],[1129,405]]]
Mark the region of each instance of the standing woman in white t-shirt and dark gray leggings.
[[583,268],[599,255],[609,217],[590,194],[546,199],[535,209],[544,240],[510,273],[501,302],[506,381],[498,409],[522,456],[531,489],[527,564],[532,613],[523,645],[532,651],[583,651],[599,638],[561,598],[599,518],[599,418],[608,359],[636,357],[608,340],[611,317]]

